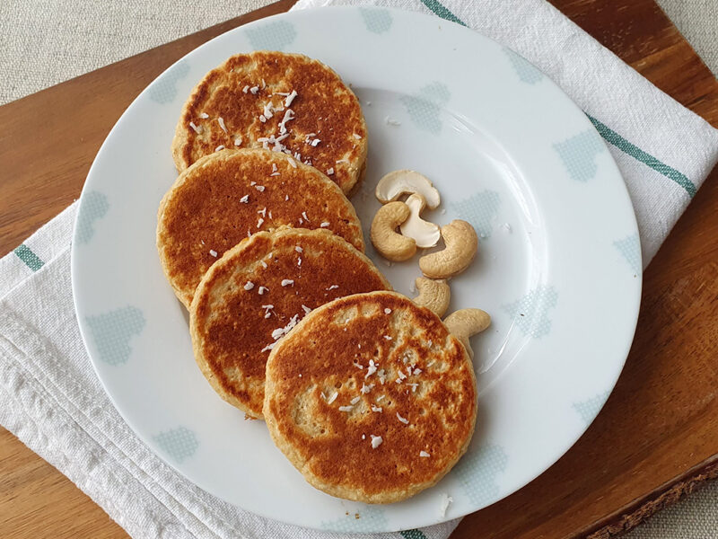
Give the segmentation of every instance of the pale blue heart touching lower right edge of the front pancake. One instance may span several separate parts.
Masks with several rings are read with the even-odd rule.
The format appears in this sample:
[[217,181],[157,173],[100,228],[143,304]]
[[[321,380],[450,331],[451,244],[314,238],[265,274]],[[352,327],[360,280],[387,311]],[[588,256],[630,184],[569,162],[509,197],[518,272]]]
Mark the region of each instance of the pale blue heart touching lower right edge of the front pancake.
[[454,468],[471,503],[480,506],[496,499],[500,487],[497,479],[506,470],[509,457],[501,446],[480,446],[464,455]]

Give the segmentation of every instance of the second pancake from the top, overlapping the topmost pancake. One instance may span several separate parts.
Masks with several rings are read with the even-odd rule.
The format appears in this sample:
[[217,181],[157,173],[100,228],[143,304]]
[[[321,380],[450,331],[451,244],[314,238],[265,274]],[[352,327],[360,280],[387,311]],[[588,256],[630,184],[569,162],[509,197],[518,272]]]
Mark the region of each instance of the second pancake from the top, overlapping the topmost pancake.
[[164,196],[157,249],[184,305],[223,252],[255,232],[282,225],[327,228],[363,251],[362,226],[342,191],[311,166],[294,168],[290,159],[265,150],[224,150],[182,172]]

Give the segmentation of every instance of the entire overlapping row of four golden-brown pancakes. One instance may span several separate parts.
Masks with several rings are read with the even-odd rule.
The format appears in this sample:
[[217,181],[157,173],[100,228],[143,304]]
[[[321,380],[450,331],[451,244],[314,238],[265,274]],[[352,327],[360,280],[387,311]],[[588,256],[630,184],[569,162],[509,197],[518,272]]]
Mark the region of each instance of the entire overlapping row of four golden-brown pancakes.
[[363,254],[354,93],[308,57],[236,55],[189,97],[172,155],[157,247],[215,391],[329,494],[388,503],[441,479],[474,429],[474,372]]

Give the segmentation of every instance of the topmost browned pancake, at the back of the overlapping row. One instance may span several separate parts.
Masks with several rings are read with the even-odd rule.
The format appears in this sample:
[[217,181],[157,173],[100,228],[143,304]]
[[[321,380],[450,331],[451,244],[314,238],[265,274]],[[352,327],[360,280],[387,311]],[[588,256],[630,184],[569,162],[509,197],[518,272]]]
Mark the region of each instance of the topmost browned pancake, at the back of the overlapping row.
[[[287,114],[292,118],[285,120]],[[172,156],[181,172],[219,146],[286,151],[348,193],[363,173],[366,136],[355,94],[328,66],[262,50],[230,57],[197,84],[182,110]]]

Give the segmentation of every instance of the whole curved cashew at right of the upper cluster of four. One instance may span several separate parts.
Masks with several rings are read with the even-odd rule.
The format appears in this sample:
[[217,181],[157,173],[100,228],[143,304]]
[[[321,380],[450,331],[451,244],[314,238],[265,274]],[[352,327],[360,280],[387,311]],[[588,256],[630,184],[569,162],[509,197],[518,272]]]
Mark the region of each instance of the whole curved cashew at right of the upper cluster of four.
[[477,254],[478,236],[474,227],[456,219],[442,226],[446,249],[426,254],[419,259],[425,277],[449,278],[466,270]]

